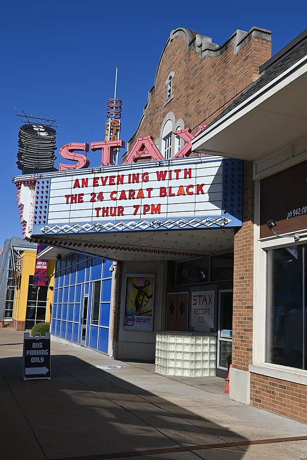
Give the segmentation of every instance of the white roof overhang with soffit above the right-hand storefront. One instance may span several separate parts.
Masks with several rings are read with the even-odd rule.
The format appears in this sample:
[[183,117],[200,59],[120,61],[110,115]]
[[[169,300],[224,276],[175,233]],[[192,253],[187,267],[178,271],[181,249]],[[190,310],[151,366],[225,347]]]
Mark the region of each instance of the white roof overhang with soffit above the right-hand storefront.
[[192,141],[192,150],[243,160],[307,133],[307,57],[234,107]]

